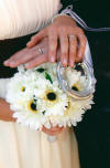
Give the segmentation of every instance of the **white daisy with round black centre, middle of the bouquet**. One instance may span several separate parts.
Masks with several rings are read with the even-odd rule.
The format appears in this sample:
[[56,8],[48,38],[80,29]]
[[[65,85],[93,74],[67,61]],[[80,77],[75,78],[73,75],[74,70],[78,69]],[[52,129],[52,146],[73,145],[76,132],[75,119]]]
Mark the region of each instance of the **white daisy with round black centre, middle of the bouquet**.
[[[38,81],[41,83],[41,81]],[[40,85],[41,86],[41,85]],[[36,88],[34,95],[41,98],[45,107],[45,115],[63,115],[68,98],[62,90],[58,88],[58,83],[51,84],[48,81],[42,80],[42,86]]]

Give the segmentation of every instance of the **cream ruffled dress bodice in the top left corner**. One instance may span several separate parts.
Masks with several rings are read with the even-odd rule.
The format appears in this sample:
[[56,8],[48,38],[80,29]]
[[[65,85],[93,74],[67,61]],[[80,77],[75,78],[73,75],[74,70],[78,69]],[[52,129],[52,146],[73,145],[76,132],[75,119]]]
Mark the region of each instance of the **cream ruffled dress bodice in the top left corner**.
[[0,0],[0,40],[38,31],[58,9],[59,0]]

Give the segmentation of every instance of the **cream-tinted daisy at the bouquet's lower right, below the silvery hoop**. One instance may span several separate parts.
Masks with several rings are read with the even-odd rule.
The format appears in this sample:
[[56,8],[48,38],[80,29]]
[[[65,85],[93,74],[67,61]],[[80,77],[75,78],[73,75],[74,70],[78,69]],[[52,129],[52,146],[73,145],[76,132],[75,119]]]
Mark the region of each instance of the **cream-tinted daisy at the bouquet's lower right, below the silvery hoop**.
[[76,126],[78,122],[82,119],[82,114],[85,111],[91,108],[91,104],[94,104],[92,99],[86,99],[86,101],[73,101],[73,98],[68,97],[68,105],[66,106],[66,109],[64,112],[63,116],[56,115],[53,116],[51,115],[51,122],[52,124],[59,125],[61,127],[64,126]]

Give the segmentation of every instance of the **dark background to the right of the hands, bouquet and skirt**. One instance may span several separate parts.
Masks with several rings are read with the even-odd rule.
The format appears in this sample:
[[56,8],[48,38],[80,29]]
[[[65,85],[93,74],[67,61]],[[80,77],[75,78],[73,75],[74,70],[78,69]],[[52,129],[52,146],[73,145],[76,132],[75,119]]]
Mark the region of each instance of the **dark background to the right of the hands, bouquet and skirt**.
[[[110,27],[109,0],[64,0],[89,27]],[[81,168],[110,167],[110,32],[85,32],[97,78],[95,105],[75,128]]]

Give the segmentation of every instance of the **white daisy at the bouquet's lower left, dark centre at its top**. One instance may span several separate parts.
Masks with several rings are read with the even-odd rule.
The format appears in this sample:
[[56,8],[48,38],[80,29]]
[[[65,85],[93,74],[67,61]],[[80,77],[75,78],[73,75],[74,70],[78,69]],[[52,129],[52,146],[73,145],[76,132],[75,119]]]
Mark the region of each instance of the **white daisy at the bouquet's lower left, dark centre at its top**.
[[15,111],[13,117],[16,118],[16,122],[35,129],[42,128],[45,124],[45,111],[41,107],[40,99],[20,102],[18,108],[16,105],[11,105],[11,109]]

